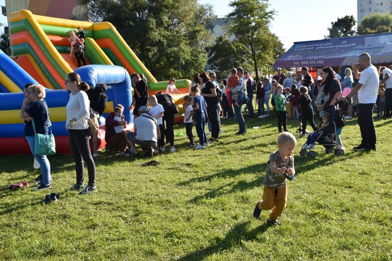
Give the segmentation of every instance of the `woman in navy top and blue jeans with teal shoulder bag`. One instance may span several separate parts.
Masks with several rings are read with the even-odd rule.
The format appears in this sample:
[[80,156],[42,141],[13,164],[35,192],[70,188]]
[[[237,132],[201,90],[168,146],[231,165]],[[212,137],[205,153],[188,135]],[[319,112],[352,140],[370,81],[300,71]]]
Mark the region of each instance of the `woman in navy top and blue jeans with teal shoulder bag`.
[[[24,92],[28,92],[28,95],[23,100],[20,116],[25,119],[25,138],[29,143],[30,150],[33,153],[34,158],[40,164],[40,169],[42,173],[42,181],[39,186],[34,189],[43,190],[52,188],[50,181],[50,163],[46,155],[37,155],[35,151],[35,133],[38,134],[51,134],[50,121],[48,106],[44,100],[45,98],[45,88],[41,85],[31,85],[25,89]],[[27,105],[29,107],[27,108]],[[34,128],[33,128],[34,122]]]

